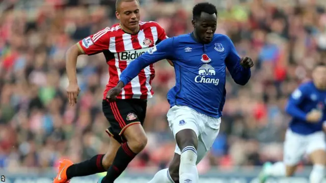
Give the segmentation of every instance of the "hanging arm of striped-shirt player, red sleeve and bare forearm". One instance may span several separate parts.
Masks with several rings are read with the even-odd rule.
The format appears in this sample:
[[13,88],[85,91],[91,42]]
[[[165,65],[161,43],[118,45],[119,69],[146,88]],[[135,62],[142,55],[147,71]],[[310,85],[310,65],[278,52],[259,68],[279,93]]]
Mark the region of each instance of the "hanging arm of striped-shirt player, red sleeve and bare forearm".
[[67,94],[71,106],[77,103],[77,96],[80,92],[76,76],[77,57],[81,54],[93,55],[107,50],[110,45],[110,38],[107,34],[108,31],[110,31],[110,28],[107,27],[94,35],[80,40],[66,52],[66,71],[69,80]]

